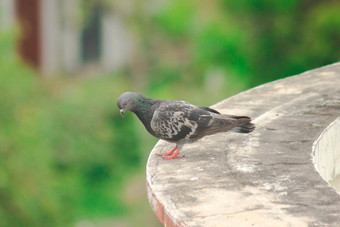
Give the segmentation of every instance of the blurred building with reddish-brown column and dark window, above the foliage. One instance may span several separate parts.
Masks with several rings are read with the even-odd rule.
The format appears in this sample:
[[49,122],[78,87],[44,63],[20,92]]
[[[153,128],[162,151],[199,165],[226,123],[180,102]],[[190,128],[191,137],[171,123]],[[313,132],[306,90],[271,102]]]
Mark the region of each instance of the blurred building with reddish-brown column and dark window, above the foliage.
[[19,25],[18,52],[44,75],[87,65],[116,70],[131,56],[132,40],[119,14],[100,5],[79,19],[79,0],[0,0],[3,26]]

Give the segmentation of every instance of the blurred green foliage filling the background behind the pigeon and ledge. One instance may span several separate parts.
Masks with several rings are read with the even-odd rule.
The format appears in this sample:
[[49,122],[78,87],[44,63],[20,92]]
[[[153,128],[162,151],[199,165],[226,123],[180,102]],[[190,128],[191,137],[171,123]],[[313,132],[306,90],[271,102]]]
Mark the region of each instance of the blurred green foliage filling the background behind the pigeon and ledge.
[[[79,1],[84,15],[96,3]],[[125,11],[100,2],[127,12],[136,36],[121,72],[43,79],[18,59],[18,34],[0,30],[1,226],[129,214],[124,184],[155,140],[132,114],[121,119],[123,91],[211,105],[340,58],[337,1],[173,0],[150,11],[149,0]]]

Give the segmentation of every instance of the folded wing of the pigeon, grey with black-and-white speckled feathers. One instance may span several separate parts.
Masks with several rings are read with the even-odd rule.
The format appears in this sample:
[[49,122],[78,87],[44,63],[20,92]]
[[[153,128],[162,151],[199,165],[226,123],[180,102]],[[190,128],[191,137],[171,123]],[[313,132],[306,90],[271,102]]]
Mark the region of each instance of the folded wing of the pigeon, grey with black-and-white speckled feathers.
[[150,125],[154,136],[169,142],[199,139],[238,126],[237,119],[215,112],[187,102],[165,102],[155,110]]

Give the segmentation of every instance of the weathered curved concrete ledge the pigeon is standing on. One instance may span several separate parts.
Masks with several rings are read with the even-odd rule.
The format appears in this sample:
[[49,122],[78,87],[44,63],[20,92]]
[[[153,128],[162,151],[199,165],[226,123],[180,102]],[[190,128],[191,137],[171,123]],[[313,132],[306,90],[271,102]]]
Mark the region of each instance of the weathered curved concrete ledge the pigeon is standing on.
[[[251,116],[257,128],[205,137],[186,145],[183,159],[170,161],[155,154],[173,145],[157,143],[147,163],[147,190],[165,226],[340,223],[340,195],[315,168],[328,181],[340,172],[339,127],[328,127],[340,116],[339,63],[264,84],[213,107]],[[320,139],[327,128],[333,139]]]

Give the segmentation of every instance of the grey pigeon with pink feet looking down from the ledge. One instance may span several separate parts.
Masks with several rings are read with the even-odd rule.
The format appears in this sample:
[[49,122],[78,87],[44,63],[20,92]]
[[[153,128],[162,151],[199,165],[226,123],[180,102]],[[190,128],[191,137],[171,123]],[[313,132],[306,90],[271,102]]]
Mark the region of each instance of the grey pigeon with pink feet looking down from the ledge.
[[221,114],[186,101],[151,99],[135,92],[123,93],[117,106],[122,117],[129,110],[136,114],[151,135],[176,144],[170,152],[158,154],[165,160],[182,158],[179,152],[183,145],[204,136],[230,130],[249,133],[255,129],[247,116]]

